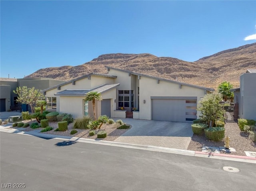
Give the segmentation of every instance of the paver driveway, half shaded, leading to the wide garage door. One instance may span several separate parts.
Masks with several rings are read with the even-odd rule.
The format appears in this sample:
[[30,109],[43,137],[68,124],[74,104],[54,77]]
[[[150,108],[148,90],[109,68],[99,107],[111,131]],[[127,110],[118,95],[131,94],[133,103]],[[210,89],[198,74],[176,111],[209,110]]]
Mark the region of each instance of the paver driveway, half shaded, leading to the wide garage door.
[[114,142],[187,150],[193,136],[191,123],[131,118],[122,118],[122,121],[132,125],[132,128]]

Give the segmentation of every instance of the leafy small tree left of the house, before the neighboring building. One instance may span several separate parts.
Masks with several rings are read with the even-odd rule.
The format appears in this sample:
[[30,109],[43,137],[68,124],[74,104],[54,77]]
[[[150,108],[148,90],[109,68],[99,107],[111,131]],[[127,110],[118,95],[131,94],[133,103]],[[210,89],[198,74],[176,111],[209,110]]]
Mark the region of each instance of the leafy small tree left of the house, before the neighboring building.
[[44,95],[34,87],[17,87],[16,91],[14,90],[13,92],[18,95],[16,101],[22,104],[28,104],[31,108],[32,113],[34,112],[34,106],[36,104],[36,101],[44,98]]

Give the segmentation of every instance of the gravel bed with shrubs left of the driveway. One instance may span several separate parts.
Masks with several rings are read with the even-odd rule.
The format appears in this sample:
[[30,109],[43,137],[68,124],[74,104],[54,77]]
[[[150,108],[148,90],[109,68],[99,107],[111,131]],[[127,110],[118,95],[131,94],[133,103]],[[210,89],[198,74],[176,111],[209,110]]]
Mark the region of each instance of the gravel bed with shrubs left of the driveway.
[[[36,120],[26,120],[24,121],[24,123],[33,123],[36,122]],[[129,124],[127,124],[129,125]],[[122,134],[124,134],[127,130],[129,130],[132,126],[130,126],[129,129],[116,129],[118,128],[118,124],[114,123],[114,124],[103,124],[102,127],[100,129],[96,129],[95,130],[95,135],[94,136],[89,136],[89,132],[91,131],[90,129],[75,129],[77,130],[76,134],[71,135],[70,132],[71,130],[73,130],[73,126],[74,126],[74,122],[68,124],[68,130],[67,131],[54,131],[56,128],[58,128],[58,122],[49,122],[49,126],[53,128],[53,130],[51,131],[47,131],[47,132],[41,132],[44,134],[52,134],[52,135],[61,135],[61,136],[70,136],[70,137],[77,137],[77,138],[87,138],[87,139],[95,139],[95,140],[106,140],[106,141],[114,141],[116,138],[118,138],[119,136],[121,136]],[[37,128],[42,130],[43,128]],[[25,128],[22,131],[33,131],[33,130],[37,130],[37,129],[32,129],[29,127]],[[107,132],[107,137],[106,138],[97,138],[97,133],[99,131],[106,131]]]

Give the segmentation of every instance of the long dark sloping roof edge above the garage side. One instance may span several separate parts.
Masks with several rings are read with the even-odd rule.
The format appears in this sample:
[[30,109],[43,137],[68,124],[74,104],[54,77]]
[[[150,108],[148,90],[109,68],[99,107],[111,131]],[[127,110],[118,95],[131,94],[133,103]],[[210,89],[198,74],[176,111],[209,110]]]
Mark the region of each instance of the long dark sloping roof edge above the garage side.
[[132,71],[128,71],[128,70],[123,70],[123,69],[118,69],[118,68],[109,67],[109,66],[105,66],[105,67],[106,67],[107,69],[114,69],[114,70],[118,70],[118,71],[122,71],[122,72],[131,73],[131,74],[133,74],[133,75],[138,75],[138,76],[144,76],[144,77],[154,78],[154,79],[158,79],[158,80],[162,80],[162,81],[172,82],[172,83],[176,83],[176,84],[180,84],[180,85],[186,85],[186,86],[190,86],[190,87],[194,87],[194,88],[198,88],[198,89],[204,89],[204,90],[208,90],[208,91],[214,91],[214,89],[212,89],[212,88],[207,88],[207,87],[202,87],[202,86],[187,84],[187,83],[183,83],[183,82],[178,82],[178,81],[169,80],[169,79],[165,79],[165,78],[159,78],[159,77],[155,77],[155,76],[150,76],[150,75],[146,75],[146,74],[136,73],[136,72],[132,72]]

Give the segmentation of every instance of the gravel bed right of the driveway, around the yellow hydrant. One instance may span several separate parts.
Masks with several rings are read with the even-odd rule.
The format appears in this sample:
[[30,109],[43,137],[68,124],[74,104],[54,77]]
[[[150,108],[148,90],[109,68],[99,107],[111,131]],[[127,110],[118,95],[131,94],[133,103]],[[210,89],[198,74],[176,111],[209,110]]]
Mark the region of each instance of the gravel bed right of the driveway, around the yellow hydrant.
[[[244,151],[256,152],[256,143],[250,140],[250,138],[248,137],[249,136],[248,133],[240,131],[237,122],[226,121],[225,136],[226,135],[230,137],[230,147],[234,148],[236,152],[231,152],[231,153],[220,152],[220,153],[246,156]],[[214,142],[211,140],[207,140],[204,135],[199,136],[194,134],[188,146],[188,150],[202,151],[203,146],[220,147],[224,145],[225,145],[224,139],[219,142]]]

